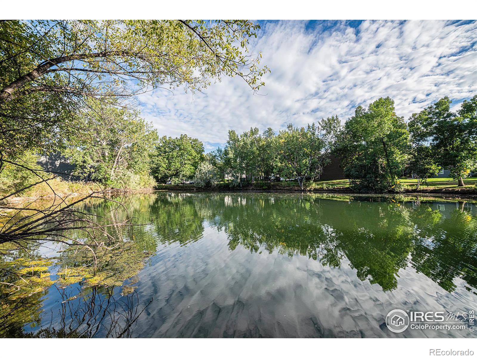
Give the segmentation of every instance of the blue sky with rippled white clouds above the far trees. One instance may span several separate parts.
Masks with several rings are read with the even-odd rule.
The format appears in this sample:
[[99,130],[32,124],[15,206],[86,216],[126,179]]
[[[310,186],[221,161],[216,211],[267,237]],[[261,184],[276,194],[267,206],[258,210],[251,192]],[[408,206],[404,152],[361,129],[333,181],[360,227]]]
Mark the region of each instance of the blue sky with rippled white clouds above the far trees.
[[157,89],[139,97],[144,118],[160,136],[182,133],[223,147],[228,130],[276,131],[394,99],[408,119],[448,96],[457,109],[477,94],[477,21],[259,21],[251,53],[270,74],[253,94],[238,77],[203,93]]

